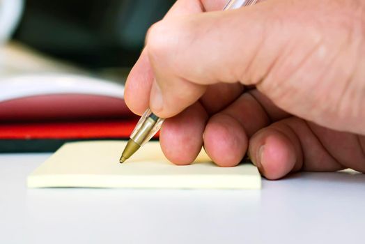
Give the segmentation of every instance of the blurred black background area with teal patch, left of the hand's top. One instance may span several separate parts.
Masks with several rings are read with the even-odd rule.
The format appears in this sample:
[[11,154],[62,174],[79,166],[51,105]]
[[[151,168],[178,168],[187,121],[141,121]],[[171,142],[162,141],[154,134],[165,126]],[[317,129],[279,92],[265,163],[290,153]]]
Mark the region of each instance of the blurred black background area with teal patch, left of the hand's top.
[[132,66],[174,0],[27,0],[15,40],[88,68]]

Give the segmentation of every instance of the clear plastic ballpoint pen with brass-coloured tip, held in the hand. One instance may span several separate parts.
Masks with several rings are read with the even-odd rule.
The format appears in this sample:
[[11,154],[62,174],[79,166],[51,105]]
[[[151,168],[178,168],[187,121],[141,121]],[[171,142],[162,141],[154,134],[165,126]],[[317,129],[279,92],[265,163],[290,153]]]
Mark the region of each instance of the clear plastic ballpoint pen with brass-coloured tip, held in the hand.
[[[253,5],[258,1],[259,0],[230,0],[223,10]],[[119,162],[125,162],[125,160],[130,158],[130,156],[132,156],[141,146],[146,144],[146,142],[148,142],[156,134],[156,132],[160,130],[163,122],[164,119],[159,118],[153,114],[150,109],[147,109],[130,135],[130,139],[124,148]]]

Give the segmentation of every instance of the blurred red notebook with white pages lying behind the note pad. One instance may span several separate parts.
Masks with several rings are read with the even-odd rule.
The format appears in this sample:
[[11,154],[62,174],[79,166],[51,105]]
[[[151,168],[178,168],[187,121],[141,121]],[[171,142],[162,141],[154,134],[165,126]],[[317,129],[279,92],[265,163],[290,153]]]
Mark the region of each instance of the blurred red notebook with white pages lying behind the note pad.
[[124,85],[77,75],[24,75],[0,82],[0,152],[56,151],[63,143],[127,139],[137,123]]

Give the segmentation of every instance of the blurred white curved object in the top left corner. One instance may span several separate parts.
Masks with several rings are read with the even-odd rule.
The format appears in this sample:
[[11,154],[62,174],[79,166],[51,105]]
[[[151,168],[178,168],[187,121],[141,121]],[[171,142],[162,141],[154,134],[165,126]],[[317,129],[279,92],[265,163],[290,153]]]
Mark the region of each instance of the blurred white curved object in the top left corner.
[[23,0],[0,0],[0,44],[15,30],[23,10]]

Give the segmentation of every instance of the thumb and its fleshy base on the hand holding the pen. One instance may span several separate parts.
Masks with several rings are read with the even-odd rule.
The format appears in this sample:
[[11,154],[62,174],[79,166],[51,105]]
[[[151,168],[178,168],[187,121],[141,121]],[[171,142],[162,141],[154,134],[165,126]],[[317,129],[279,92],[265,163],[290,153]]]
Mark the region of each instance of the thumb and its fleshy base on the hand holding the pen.
[[365,119],[359,75],[365,62],[358,55],[364,37],[355,34],[351,41],[343,27],[353,22],[352,11],[327,1],[284,0],[162,20],[146,41],[156,78],[150,107],[174,116],[199,100],[207,85],[240,81],[291,114],[364,133],[358,123]]

